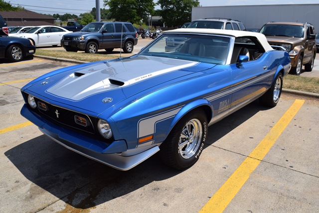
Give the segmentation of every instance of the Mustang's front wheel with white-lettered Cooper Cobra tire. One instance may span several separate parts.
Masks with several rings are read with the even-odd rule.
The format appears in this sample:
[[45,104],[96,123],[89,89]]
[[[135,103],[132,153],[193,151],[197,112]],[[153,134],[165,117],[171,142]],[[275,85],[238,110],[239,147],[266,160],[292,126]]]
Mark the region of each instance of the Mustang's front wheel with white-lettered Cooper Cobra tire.
[[202,110],[186,114],[160,145],[160,158],[168,166],[184,170],[195,164],[207,138],[207,117]]

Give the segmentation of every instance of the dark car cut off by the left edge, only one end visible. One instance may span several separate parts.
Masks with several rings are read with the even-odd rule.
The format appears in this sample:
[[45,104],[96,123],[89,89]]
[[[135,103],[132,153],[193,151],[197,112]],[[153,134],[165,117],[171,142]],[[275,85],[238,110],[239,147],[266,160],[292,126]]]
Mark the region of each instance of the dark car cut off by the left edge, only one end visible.
[[30,39],[0,36],[0,58],[18,62],[34,53],[35,46]]

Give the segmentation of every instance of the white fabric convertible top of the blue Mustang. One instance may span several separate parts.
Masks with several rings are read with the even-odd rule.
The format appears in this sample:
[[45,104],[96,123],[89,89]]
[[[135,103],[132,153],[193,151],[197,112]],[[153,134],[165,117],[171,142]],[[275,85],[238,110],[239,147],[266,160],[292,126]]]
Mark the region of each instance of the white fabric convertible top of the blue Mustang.
[[233,37],[243,36],[254,36],[256,37],[261,45],[263,45],[265,51],[274,50],[267,42],[267,38],[264,34],[259,32],[250,32],[242,30],[229,30],[229,29],[206,29],[206,28],[179,28],[173,30],[167,30],[165,32],[188,32],[188,33],[206,33],[206,34],[217,34],[217,35],[229,35]]

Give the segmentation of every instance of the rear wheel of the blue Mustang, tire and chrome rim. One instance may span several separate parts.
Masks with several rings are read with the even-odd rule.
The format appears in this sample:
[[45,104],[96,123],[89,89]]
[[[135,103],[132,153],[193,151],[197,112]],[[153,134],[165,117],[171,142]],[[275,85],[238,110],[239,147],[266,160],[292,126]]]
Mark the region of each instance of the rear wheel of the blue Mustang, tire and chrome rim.
[[260,97],[260,101],[263,105],[274,107],[279,102],[281,91],[283,89],[283,75],[279,73],[271,85],[270,89]]

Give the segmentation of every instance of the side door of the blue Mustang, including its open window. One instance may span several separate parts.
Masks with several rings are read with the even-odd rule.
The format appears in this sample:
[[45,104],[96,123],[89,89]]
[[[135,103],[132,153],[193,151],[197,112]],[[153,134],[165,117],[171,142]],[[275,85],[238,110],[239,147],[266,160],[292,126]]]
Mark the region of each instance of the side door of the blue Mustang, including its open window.
[[[255,38],[257,40],[257,38]],[[249,55],[249,61],[232,61],[233,95],[231,108],[244,105],[264,93],[273,79],[268,55],[253,38],[236,38],[233,55]],[[244,44],[244,45],[243,45]],[[249,46],[251,46],[249,48]],[[236,53],[237,51],[237,53]],[[248,51],[248,52],[247,52]]]

